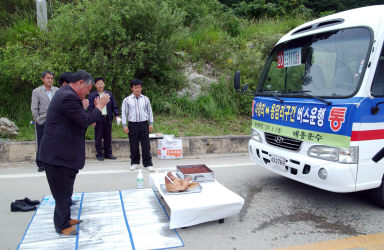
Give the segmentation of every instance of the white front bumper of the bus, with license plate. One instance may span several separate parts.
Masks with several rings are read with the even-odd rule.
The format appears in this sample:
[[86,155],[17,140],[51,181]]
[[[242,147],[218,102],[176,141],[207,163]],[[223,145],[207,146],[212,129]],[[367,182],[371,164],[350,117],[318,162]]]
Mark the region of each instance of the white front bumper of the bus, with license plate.
[[[248,152],[253,162],[295,181],[332,192],[356,191],[356,171],[354,169],[357,168],[357,164],[316,159],[252,139],[248,142]],[[319,171],[323,179],[320,178]],[[324,179],[325,172],[327,174]]]

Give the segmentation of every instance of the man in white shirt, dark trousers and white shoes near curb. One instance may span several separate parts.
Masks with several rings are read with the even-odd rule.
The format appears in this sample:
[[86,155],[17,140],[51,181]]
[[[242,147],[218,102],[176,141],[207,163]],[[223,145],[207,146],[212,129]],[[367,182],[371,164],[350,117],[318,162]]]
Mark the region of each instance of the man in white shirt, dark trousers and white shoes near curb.
[[[123,120],[124,133],[128,134],[129,147],[131,151],[131,168],[133,171],[139,167],[140,153],[143,166],[153,172],[151,145],[149,144],[149,132],[153,130],[153,114],[149,98],[141,94],[143,82],[140,79],[133,79],[130,82],[132,94],[123,100],[121,105],[121,116]],[[127,126],[128,120],[128,126]]]

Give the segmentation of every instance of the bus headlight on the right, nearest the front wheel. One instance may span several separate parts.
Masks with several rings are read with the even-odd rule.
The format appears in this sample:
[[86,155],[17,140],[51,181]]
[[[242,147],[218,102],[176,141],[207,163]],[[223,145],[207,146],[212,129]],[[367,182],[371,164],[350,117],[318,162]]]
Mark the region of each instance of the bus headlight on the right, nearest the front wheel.
[[323,145],[312,146],[308,150],[308,156],[327,161],[356,164],[358,160],[358,147],[335,148]]

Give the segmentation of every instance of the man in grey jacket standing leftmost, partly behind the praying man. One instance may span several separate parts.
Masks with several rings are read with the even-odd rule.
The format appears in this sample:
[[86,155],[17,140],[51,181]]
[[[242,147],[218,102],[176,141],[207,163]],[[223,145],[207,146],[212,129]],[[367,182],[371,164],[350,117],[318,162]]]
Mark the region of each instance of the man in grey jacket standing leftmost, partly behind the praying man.
[[54,75],[51,71],[44,71],[41,74],[41,81],[43,85],[35,88],[32,91],[32,101],[31,101],[31,111],[33,115],[33,120],[35,121],[36,129],[36,164],[37,171],[44,171],[44,166],[39,160],[39,151],[40,151],[40,140],[44,134],[44,124],[47,116],[48,106],[52,100],[53,95],[58,90],[57,87],[52,86],[54,80]]

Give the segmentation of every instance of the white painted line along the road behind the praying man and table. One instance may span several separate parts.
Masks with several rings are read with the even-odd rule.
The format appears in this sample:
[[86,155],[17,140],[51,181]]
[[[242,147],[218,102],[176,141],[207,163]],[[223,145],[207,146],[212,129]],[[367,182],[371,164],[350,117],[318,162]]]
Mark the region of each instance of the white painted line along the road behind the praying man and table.
[[[228,167],[247,167],[247,166],[255,166],[254,163],[234,163],[234,164],[221,164],[221,165],[208,165],[210,168],[228,168]],[[157,168],[155,170],[167,171],[167,170],[176,170],[176,167],[169,168]],[[138,170],[130,171],[130,170],[94,170],[94,171],[79,171],[78,175],[99,175],[99,174],[122,174],[122,173],[135,173]],[[0,175],[0,179],[17,179],[17,178],[31,178],[31,177],[45,177],[45,173],[32,173],[32,174],[4,174]]]

